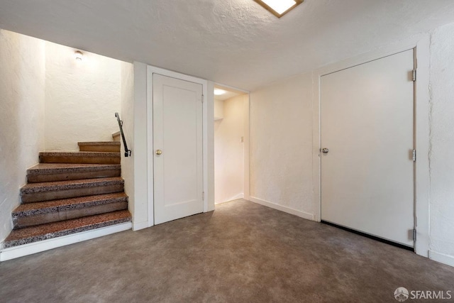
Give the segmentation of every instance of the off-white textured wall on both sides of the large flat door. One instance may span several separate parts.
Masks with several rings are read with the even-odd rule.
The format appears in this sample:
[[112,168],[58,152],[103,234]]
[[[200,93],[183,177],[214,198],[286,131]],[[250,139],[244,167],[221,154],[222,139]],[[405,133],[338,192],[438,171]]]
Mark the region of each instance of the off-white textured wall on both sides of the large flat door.
[[[430,35],[430,249],[431,258],[454,265],[454,23]],[[311,73],[297,75],[250,97],[251,200],[308,219],[316,213],[312,81]]]

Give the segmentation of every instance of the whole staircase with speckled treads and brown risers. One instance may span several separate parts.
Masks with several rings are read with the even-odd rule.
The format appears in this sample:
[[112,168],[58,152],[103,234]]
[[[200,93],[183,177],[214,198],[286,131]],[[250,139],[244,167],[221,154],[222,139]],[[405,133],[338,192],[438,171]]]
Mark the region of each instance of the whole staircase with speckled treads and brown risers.
[[80,142],[79,152],[40,153],[4,248],[131,221],[120,142]]

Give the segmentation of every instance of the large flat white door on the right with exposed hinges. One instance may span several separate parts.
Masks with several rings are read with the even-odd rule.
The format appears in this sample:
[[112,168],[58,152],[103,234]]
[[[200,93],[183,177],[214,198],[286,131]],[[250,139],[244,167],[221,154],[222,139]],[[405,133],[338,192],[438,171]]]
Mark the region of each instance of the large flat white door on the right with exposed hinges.
[[414,246],[414,51],[321,77],[321,219]]

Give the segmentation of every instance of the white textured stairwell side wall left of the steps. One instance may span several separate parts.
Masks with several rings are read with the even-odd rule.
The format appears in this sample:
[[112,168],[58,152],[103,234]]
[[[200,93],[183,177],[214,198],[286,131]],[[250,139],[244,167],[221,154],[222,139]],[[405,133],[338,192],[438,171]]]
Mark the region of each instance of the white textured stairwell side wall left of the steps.
[[45,43],[0,30],[0,242],[12,229],[26,169],[44,148]]

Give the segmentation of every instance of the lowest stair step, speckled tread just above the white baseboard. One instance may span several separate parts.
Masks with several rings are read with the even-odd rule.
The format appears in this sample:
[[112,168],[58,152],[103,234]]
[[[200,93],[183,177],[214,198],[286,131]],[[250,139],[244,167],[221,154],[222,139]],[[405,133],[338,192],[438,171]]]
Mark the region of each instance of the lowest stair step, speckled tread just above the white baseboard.
[[8,238],[5,239],[4,246],[5,248],[10,248],[50,238],[67,236],[72,233],[80,233],[82,231],[90,231],[96,228],[121,224],[128,221],[131,221],[131,213],[128,210],[123,210],[15,229],[9,234]]

